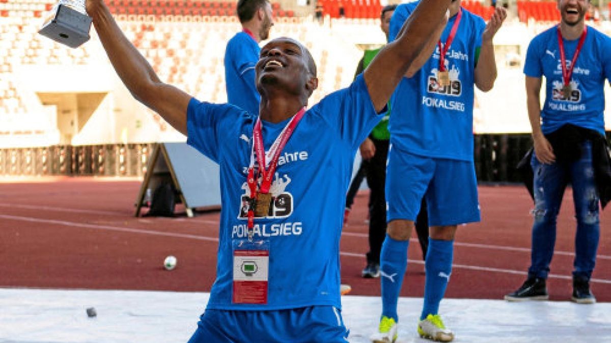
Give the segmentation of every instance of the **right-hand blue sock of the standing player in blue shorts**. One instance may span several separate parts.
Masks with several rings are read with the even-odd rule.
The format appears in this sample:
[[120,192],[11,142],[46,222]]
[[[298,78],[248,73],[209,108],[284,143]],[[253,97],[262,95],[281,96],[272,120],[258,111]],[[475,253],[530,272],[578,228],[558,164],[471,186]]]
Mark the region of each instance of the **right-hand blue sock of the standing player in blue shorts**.
[[426,251],[426,281],[424,286],[424,305],[420,320],[428,314],[439,312],[439,303],[444,297],[445,289],[452,274],[452,259],[454,255],[453,240],[428,239]]

